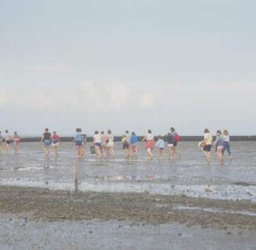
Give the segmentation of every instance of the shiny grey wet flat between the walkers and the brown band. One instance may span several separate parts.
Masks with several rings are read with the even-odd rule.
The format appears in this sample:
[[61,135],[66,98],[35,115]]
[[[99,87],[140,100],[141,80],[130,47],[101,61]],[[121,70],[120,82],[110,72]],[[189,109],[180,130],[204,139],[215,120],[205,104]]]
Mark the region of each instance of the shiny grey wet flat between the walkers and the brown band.
[[[136,158],[125,159],[119,143],[116,143],[115,158],[110,160],[96,160],[90,154],[77,159],[73,143],[61,145],[58,159],[54,158],[53,153],[49,158],[44,158],[38,143],[23,143],[18,155],[0,156],[0,180],[2,185],[23,187],[97,192],[147,191],[256,200],[256,166],[253,164],[256,154],[243,151],[244,148],[255,147],[256,143],[233,143],[234,153],[240,152],[240,155],[232,161],[225,158],[221,165],[214,154],[211,163],[207,164],[194,144],[180,143],[182,159],[171,162],[154,158],[148,162],[142,147]],[[233,183],[248,183],[248,186],[238,188]],[[207,187],[212,192],[206,192]]]

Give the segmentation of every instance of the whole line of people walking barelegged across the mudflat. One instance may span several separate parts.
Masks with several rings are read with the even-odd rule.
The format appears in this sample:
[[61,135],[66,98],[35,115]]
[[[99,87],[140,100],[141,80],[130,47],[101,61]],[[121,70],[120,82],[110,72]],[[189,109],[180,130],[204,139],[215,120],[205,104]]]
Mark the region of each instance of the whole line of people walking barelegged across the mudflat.
[[[175,128],[171,128],[169,133],[162,136],[159,135],[157,138],[153,135],[151,129],[149,129],[146,133],[146,136],[139,141],[139,138],[136,136],[135,132],[125,131],[125,134],[121,138],[122,148],[125,152],[125,158],[133,158],[138,154],[138,144],[145,143],[146,148],[146,157],[148,160],[153,159],[153,149],[157,149],[158,158],[165,158],[165,147],[167,142],[167,153],[169,160],[172,160],[175,155],[178,158],[181,158],[181,153],[177,151],[177,144],[180,141],[180,136],[176,132]],[[228,151],[229,158],[231,156],[230,138],[228,130],[222,131],[218,130],[216,133],[216,140],[213,142],[212,134],[206,128],[204,130],[204,137],[202,142],[198,144],[198,147],[202,148],[203,153],[207,158],[207,162],[211,159],[211,151],[212,145],[215,146],[216,153],[218,155],[218,159],[220,161],[223,160],[223,155],[225,151]],[[8,133],[8,130],[5,130],[4,135],[0,132],[0,153],[2,152],[3,142],[5,143],[6,153],[10,153],[12,148],[12,144],[14,143],[15,153],[19,152],[20,149],[20,137],[17,132],[13,133],[11,136]],[[156,143],[155,143],[156,142]],[[54,131],[53,134],[49,132],[49,128],[45,128],[43,136],[41,138],[41,143],[44,146],[44,154],[46,158],[49,158],[50,147],[54,148],[54,157],[59,157],[59,143],[60,137]],[[76,147],[76,154],[78,158],[84,158],[85,156],[85,143],[86,143],[86,134],[82,133],[81,128],[76,128],[74,135],[74,144]],[[93,142],[90,145],[90,153],[95,154],[95,158],[115,158],[115,138],[111,132],[111,130],[99,132],[95,131]]]

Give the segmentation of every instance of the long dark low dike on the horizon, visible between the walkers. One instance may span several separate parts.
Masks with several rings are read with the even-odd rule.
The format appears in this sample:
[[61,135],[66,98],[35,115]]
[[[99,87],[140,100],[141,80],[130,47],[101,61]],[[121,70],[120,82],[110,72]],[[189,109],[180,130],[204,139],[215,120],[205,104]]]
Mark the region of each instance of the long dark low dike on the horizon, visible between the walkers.
[[[138,136],[139,141],[142,140],[142,136]],[[155,137],[157,138],[157,136]],[[213,137],[214,138],[214,137]],[[88,137],[86,139],[86,142],[91,143],[92,142],[92,137]],[[27,138],[21,138],[22,143],[38,143],[40,142],[41,138],[39,137],[27,137]],[[62,137],[61,142],[64,143],[69,143],[73,142],[74,138],[72,137]],[[115,136],[115,142],[120,142],[121,137],[120,136]],[[200,142],[202,141],[202,136],[183,136],[181,137],[181,142]],[[231,136],[230,137],[231,142],[255,142],[256,141],[256,136]]]

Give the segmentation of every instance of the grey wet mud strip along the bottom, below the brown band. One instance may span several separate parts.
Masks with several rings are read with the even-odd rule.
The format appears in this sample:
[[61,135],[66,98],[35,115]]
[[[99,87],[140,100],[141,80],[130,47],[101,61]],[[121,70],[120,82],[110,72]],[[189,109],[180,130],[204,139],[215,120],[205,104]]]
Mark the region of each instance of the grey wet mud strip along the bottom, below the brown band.
[[33,222],[0,215],[1,250],[255,250],[255,231],[217,229],[172,223],[144,225],[118,221]]

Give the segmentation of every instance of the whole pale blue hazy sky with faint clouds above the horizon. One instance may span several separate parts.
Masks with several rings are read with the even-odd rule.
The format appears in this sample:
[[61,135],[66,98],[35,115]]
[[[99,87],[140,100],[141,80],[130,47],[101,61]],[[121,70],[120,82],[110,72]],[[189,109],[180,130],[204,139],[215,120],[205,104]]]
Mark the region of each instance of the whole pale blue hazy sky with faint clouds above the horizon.
[[256,1],[0,0],[0,130],[255,135]]

